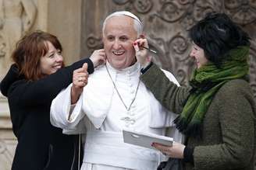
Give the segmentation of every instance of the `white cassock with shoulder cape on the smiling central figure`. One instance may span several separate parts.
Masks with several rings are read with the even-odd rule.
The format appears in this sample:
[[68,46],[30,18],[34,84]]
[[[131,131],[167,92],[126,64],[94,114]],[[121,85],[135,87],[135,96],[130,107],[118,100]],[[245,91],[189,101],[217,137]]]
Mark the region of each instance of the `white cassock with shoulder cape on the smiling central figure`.
[[[106,67],[125,105],[129,107],[135,98],[129,111]],[[170,72],[164,72],[178,85]],[[76,106],[72,107],[70,102],[72,84],[52,101],[52,125],[62,128],[64,134],[86,135],[81,169],[155,170],[162,155],[152,149],[123,143],[123,129],[165,135],[166,127],[172,127],[169,135],[174,141],[182,141],[182,135],[172,124],[176,114],[162,107],[142,82],[137,89],[139,81],[140,64],[119,71],[107,63],[89,76]],[[72,113],[70,117],[69,113]]]

